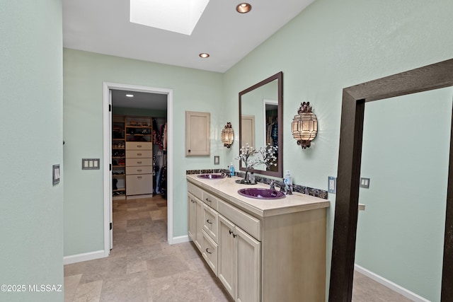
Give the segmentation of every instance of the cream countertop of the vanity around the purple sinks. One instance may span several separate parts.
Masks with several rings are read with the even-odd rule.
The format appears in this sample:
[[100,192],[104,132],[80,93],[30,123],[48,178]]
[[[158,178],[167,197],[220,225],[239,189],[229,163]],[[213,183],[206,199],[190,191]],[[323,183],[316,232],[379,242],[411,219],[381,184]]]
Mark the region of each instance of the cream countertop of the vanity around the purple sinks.
[[240,209],[258,218],[267,216],[275,216],[280,214],[294,213],[298,211],[309,211],[312,209],[328,208],[331,202],[319,197],[310,196],[294,192],[292,195],[287,195],[282,199],[254,199],[244,197],[237,191],[244,187],[247,188],[269,188],[269,185],[258,182],[257,185],[241,185],[237,184],[235,180],[240,180],[239,177],[222,178],[219,180],[205,180],[197,178],[197,175],[186,175],[189,182],[201,187],[208,192],[217,195],[225,202],[229,202]]

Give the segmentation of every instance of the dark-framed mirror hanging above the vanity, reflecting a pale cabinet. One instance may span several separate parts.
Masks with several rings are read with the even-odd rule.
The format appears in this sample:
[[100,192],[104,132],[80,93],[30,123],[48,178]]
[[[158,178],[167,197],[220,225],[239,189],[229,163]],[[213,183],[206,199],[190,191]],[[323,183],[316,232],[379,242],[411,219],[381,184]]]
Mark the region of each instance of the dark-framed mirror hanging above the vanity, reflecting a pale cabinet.
[[[278,146],[277,165],[255,166],[255,173],[283,177],[282,119],[282,71],[239,93],[239,149],[246,144],[255,149],[268,144]],[[246,170],[241,162],[239,169]]]

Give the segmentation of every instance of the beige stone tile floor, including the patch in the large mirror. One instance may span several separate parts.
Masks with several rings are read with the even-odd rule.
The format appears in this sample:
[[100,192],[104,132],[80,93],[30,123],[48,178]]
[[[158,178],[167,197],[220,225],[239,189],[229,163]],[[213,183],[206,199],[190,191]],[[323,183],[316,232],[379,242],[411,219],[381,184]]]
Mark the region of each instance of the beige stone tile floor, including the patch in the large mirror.
[[[166,209],[160,195],[113,201],[113,250],[64,266],[64,301],[232,301],[192,243],[166,243]],[[410,301],[354,276],[352,301]]]

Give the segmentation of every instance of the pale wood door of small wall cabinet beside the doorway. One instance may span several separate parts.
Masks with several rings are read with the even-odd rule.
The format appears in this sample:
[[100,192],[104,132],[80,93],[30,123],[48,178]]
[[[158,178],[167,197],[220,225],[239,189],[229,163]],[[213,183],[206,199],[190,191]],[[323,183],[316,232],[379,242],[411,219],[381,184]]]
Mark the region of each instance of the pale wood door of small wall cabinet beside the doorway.
[[185,112],[185,156],[210,155],[209,112]]

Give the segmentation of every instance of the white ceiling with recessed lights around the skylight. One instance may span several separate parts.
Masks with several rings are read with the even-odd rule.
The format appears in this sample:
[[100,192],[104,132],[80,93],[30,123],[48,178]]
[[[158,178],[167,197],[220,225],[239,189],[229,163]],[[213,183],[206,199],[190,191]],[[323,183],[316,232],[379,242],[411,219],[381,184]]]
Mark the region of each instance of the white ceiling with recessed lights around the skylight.
[[183,35],[130,23],[129,0],[63,0],[63,46],[224,72],[313,1],[250,0],[251,12],[241,14],[239,0],[210,0],[192,35]]

